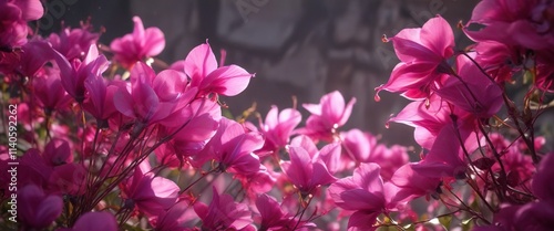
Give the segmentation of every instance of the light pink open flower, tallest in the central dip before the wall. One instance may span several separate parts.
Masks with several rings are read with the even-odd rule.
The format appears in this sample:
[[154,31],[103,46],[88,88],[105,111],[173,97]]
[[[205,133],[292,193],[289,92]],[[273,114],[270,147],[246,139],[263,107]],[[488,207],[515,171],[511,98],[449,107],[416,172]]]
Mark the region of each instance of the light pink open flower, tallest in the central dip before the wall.
[[311,113],[306,122],[306,127],[299,128],[297,133],[307,135],[312,139],[324,139],[330,141],[337,129],[343,126],[350,114],[356,98],[351,98],[345,105],[345,98],[338,92],[326,94],[319,104],[304,104],[304,108]]

